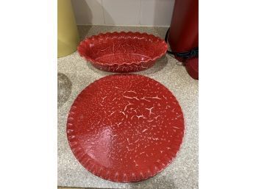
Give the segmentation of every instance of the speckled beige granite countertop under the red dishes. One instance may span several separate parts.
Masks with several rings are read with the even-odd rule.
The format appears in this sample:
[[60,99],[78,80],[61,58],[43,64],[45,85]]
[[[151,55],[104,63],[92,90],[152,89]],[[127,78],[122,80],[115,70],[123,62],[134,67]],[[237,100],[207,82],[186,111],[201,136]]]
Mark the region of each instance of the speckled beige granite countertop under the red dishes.
[[[81,40],[100,32],[147,32],[164,38],[166,27],[78,26]],[[137,72],[161,82],[176,96],[185,117],[185,137],[177,157],[160,174],[142,182],[110,182],[90,174],[76,160],[65,133],[71,104],[91,82],[112,73],[99,71],[85,63],[77,51],[61,57],[58,63],[58,179],[63,187],[80,188],[198,188],[198,85],[185,67],[166,54],[146,71]]]

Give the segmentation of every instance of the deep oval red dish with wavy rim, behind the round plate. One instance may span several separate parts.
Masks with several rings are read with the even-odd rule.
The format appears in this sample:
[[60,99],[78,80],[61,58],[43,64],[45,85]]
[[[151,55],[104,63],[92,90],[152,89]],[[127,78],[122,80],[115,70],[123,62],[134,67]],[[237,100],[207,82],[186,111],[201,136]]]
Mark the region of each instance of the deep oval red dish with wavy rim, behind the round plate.
[[111,72],[142,71],[166,54],[167,44],[154,35],[113,32],[93,35],[77,47],[96,68]]

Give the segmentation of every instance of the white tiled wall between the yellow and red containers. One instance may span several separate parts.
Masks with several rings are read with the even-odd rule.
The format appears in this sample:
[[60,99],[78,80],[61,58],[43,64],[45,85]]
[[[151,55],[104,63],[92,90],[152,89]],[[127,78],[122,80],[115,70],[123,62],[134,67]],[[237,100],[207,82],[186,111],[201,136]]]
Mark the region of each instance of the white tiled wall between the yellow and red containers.
[[169,26],[174,0],[71,0],[78,25]]

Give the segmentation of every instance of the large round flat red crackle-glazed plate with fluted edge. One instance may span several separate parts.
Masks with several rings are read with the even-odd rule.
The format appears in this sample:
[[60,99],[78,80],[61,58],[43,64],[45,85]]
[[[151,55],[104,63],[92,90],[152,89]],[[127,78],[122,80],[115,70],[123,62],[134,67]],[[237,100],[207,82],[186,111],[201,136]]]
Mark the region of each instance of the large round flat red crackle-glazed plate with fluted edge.
[[135,74],[105,76],[77,96],[68,143],[88,171],[115,182],[137,182],[166,168],[182,143],[184,118],[160,82]]

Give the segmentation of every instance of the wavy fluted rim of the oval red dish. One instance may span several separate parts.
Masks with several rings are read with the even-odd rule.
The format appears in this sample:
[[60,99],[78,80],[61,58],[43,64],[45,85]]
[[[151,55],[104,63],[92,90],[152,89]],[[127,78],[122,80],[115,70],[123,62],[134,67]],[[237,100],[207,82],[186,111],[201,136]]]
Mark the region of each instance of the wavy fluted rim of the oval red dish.
[[[117,35],[135,35],[135,36],[137,35],[137,36],[140,36],[140,37],[152,38],[156,41],[158,40],[161,43],[163,43],[163,46],[165,47],[165,49],[160,54],[155,56],[154,58],[149,58],[148,60],[141,60],[141,61],[131,61],[129,63],[127,63],[127,62],[124,62],[124,63],[102,63],[100,61],[97,61],[97,60],[89,57],[87,54],[82,53],[82,46],[84,45],[84,43],[86,43],[90,40],[98,39],[98,38],[113,38]],[[81,40],[79,45],[77,46],[77,51],[79,52],[79,55],[81,57],[83,57],[87,61],[90,61],[90,63],[98,64],[98,65],[102,65],[102,66],[113,66],[113,65],[129,66],[129,65],[132,65],[132,64],[141,65],[143,63],[149,63],[149,62],[152,62],[152,61],[156,61],[160,57],[163,57],[163,55],[166,54],[167,49],[168,49],[168,45],[167,45],[166,41],[159,38],[158,36],[148,34],[146,32],[141,33],[141,32],[124,32],[124,31],[122,31],[122,32],[106,32],[106,33],[99,33],[98,35],[91,35],[89,38],[85,38],[84,40]]]

